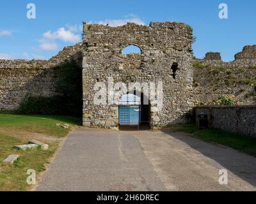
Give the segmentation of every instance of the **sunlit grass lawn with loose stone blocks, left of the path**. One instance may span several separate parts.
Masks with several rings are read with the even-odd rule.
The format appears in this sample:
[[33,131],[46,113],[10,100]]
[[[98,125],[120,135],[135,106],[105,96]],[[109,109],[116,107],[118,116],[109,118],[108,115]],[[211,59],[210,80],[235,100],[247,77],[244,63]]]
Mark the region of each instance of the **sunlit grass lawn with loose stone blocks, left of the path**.
[[[70,124],[65,129],[56,124]],[[72,127],[79,125],[79,119],[63,116],[16,115],[0,112],[0,191],[27,191],[33,186],[26,183],[27,171],[33,169],[38,175],[45,170],[54,152]],[[49,144],[48,150],[15,150],[14,145],[28,143],[35,139]],[[19,154],[13,164],[3,163],[10,154]]]

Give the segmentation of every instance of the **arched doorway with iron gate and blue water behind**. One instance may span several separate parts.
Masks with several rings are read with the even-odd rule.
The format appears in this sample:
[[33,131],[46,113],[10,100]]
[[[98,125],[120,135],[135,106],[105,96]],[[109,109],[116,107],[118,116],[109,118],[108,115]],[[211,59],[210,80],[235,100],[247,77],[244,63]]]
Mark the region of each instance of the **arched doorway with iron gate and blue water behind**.
[[148,129],[150,124],[150,105],[148,98],[141,92],[124,94],[118,102],[119,129]]

